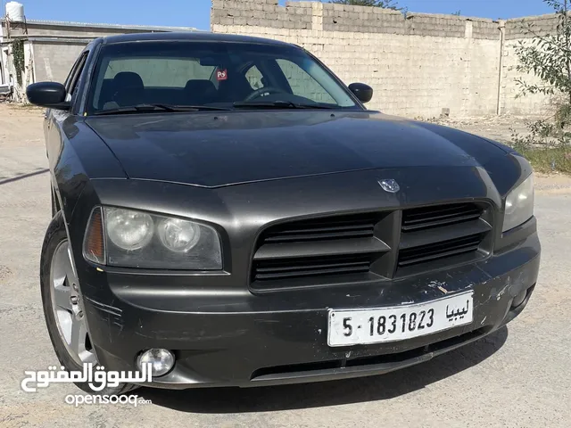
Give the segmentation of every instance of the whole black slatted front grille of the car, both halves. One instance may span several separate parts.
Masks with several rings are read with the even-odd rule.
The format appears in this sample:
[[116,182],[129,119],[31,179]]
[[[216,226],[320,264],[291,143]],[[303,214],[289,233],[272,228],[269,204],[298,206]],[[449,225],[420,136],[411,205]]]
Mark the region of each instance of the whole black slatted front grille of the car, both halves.
[[387,280],[483,259],[488,209],[484,202],[453,203],[270,226],[256,243],[251,288]]

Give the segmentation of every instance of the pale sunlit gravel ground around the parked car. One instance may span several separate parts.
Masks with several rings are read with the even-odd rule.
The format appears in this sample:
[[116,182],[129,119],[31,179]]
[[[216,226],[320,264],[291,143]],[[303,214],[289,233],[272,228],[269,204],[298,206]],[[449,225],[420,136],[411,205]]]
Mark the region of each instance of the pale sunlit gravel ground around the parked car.
[[[569,426],[571,179],[563,176],[537,180],[542,270],[528,308],[461,350],[393,374],[332,383],[140,389],[153,404],[139,407],[75,408],[64,403],[79,393],[70,384],[21,391],[24,370],[56,363],[37,277],[50,212],[41,119],[41,111],[0,104],[0,427]],[[509,138],[503,122],[513,120],[496,122],[452,126]]]

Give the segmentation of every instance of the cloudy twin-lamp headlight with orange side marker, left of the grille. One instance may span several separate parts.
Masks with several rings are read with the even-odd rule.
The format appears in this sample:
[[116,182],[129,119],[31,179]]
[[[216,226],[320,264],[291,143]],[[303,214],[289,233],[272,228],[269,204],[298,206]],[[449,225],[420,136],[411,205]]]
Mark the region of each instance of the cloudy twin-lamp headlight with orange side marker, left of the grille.
[[101,210],[94,210],[87,226],[88,260],[125,268],[222,268],[219,235],[211,226],[112,207],[103,207],[102,222]]

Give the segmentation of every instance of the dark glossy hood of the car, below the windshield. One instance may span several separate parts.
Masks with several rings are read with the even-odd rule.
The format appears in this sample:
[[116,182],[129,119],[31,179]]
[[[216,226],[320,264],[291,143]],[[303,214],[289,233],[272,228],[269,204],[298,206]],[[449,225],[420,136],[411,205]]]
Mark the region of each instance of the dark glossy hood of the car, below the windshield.
[[362,169],[475,167],[505,153],[372,111],[217,111],[87,119],[130,178],[216,187]]

